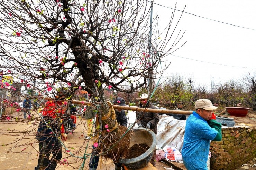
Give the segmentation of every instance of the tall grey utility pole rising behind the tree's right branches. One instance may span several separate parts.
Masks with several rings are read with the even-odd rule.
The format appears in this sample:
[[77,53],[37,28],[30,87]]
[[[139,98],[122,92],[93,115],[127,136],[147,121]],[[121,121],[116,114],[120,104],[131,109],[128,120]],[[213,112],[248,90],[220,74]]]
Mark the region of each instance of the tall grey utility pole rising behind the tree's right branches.
[[149,30],[149,57],[148,57],[148,93],[150,96],[151,95],[151,90],[152,90],[152,87],[153,87],[153,72],[151,71],[150,69],[150,62],[151,62],[151,37],[152,37],[152,16],[153,16],[153,2],[154,1],[151,1],[151,11],[150,11],[150,30]]

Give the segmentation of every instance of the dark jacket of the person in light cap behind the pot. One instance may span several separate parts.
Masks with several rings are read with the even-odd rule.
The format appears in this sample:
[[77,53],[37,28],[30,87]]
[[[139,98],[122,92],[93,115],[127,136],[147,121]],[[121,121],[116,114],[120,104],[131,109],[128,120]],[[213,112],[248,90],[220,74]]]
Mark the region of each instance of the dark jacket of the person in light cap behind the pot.
[[[140,103],[139,107],[142,107],[142,104]],[[145,108],[149,109],[156,109],[156,107],[151,104],[150,102],[147,103]],[[158,113],[152,113],[152,112],[138,112],[136,114],[137,124],[142,124],[143,127],[147,126],[147,123],[150,124],[150,129],[152,129],[155,134],[157,133],[157,124],[159,122]]]

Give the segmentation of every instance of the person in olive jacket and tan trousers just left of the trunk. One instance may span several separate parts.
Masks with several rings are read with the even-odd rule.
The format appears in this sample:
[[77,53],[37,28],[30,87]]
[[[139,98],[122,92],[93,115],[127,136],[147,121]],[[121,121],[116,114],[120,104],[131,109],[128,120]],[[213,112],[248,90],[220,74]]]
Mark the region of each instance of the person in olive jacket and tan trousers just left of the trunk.
[[[91,102],[91,99],[89,99]],[[87,124],[87,137],[85,139],[91,139],[92,136],[92,126],[93,126],[93,119],[95,118],[96,110],[93,105],[88,105],[85,110],[85,119]]]

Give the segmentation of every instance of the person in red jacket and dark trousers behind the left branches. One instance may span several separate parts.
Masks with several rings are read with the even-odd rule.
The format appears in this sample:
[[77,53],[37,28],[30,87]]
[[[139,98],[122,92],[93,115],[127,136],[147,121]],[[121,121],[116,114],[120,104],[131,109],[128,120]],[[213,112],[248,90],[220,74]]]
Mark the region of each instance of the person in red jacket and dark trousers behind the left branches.
[[62,146],[58,136],[61,135],[63,141],[67,140],[67,134],[63,124],[61,124],[61,116],[66,109],[63,107],[62,101],[49,100],[46,102],[36,134],[39,144],[39,158],[35,170],[55,170],[57,162],[61,160]]

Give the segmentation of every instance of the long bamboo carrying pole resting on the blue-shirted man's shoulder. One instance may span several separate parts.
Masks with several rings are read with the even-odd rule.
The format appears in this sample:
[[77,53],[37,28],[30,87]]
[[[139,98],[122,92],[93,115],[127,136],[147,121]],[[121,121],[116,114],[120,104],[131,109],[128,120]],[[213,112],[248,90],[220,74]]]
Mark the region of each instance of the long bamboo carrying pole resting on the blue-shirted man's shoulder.
[[[50,97],[40,97],[40,99],[44,100],[52,100]],[[73,104],[81,104],[81,105],[91,105],[91,102],[88,101],[79,101],[79,100],[73,100]],[[113,105],[113,108],[115,109],[123,109],[123,110],[132,110],[132,111],[147,111],[147,112],[153,112],[153,113],[164,113],[164,114],[184,114],[189,115],[192,114],[193,111],[185,111],[185,110],[169,110],[169,109],[149,109],[149,108],[140,108],[137,106],[120,106],[120,105]]]

